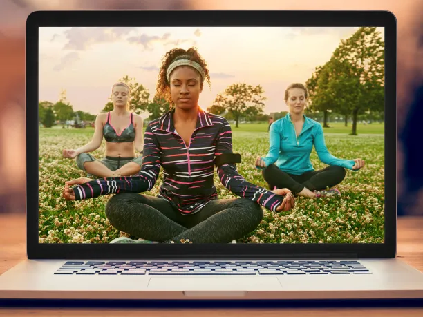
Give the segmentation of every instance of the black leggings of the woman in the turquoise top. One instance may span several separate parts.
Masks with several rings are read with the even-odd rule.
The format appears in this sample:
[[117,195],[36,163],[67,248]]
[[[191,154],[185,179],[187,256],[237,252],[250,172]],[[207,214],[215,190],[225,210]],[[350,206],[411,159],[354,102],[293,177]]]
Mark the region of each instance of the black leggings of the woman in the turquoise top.
[[287,188],[297,195],[304,187],[310,191],[321,191],[326,187],[333,187],[344,180],[346,172],[344,167],[332,165],[319,171],[292,175],[281,171],[272,164],[263,169],[262,174],[271,190],[274,189],[274,186],[279,189]]

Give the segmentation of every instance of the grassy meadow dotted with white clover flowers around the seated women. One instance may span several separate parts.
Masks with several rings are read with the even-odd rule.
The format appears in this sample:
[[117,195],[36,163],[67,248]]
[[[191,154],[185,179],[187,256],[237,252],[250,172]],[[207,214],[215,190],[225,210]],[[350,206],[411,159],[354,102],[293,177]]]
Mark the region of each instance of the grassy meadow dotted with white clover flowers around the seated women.
[[[254,160],[268,150],[268,133],[234,130],[234,152],[243,162],[238,172],[246,180],[267,188]],[[40,128],[39,131],[39,242],[104,243],[127,236],[113,228],[104,214],[111,195],[68,202],[62,198],[66,180],[86,177],[74,160],[63,159],[62,149],[86,144],[93,135],[91,128]],[[327,135],[326,144],[339,158],[366,160],[361,171],[347,171],[337,188],[342,197],[318,199],[296,198],[296,206],[287,213],[273,213],[263,208],[264,218],[256,231],[238,240],[250,243],[383,243],[384,242],[384,137]],[[104,155],[104,143],[93,154]],[[322,169],[312,151],[312,164]],[[219,198],[236,198],[220,183],[214,182]],[[157,195],[162,171],[152,191]]]

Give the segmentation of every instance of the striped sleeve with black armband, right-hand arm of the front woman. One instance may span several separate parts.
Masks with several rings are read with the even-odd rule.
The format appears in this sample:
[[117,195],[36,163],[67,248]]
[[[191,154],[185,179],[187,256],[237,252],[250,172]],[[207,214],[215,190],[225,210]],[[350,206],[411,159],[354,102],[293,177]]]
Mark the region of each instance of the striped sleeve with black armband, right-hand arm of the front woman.
[[[218,157],[222,154],[232,154],[232,130],[226,120],[220,129],[216,142],[215,155]],[[227,162],[217,166],[217,173],[220,182],[229,191],[242,198],[257,202],[271,211],[276,211],[276,208],[283,202],[283,195],[276,195],[271,191],[267,191],[267,189],[247,182],[243,176],[238,174],[234,163]]]

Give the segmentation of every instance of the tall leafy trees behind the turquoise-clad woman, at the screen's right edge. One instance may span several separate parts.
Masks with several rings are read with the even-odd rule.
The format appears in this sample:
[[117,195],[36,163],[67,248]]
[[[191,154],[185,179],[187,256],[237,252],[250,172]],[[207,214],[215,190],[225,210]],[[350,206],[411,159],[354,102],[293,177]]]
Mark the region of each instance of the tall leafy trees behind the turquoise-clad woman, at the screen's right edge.
[[330,60],[318,66],[306,85],[310,93],[310,113],[338,113],[353,118],[351,135],[357,135],[360,115],[384,117],[384,41],[376,28],[359,28],[342,40]]

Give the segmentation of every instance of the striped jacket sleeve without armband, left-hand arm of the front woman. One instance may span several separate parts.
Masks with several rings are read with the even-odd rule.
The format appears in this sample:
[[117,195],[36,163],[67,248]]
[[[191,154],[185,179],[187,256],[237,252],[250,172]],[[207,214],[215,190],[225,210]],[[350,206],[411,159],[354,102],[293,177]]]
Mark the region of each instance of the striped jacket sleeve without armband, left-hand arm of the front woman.
[[150,191],[160,172],[160,146],[147,126],[144,139],[144,158],[140,173],[133,176],[108,177],[92,180],[73,188],[75,200],[95,198],[111,193],[142,193]]

